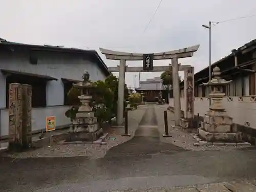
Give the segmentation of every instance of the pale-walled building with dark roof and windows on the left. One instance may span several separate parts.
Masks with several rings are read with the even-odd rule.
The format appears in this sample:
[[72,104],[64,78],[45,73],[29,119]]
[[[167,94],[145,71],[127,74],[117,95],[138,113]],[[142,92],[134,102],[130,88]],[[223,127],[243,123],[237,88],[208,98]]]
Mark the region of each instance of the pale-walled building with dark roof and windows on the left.
[[9,83],[32,86],[32,132],[46,128],[46,117],[56,116],[56,128],[70,124],[65,112],[72,83],[84,70],[92,81],[110,72],[95,50],[18,44],[0,38],[0,136],[8,136]]

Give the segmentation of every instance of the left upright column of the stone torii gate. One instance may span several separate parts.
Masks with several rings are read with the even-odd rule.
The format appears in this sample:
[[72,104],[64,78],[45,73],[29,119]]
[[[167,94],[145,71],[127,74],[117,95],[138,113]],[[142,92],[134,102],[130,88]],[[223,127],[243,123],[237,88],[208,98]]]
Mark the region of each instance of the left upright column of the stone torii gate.
[[117,101],[117,125],[123,124],[124,80],[125,80],[125,60],[120,60],[119,80],[118,80],[118,101]]

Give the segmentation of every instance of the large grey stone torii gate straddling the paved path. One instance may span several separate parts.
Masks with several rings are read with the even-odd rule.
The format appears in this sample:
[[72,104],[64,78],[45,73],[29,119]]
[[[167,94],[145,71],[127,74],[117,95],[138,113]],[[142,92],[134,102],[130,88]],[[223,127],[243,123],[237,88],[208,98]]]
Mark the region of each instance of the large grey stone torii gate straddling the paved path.
[[[159,71],[172,71],[173,70],[173,89],[174,89],[174,102],[175,102],[175,125],[180,126],[181,118],[181,104],[180,104],[180,86],[179,86],[179,70],[184,70],[190,66],[179,66],[178,59],[192,57],[194,52],[199,48],[199,45],[178,49],[174,51],[143,54],[143,53],[127,53],[118,52],[107,49],[99,48],[101,53],[106,56],[106,59],[119,60],[120,66],[109,68],[111,72],[119,72],[119,84],[118,84],[118,102],[117,102],[117,124],[122,125],[123,123],[123,103],[124,103],[124,80],[125,72],[159,72]],[[152,59],[152,66],[149,70],[144,70],[142,67],[126,67],[126,60],[143,60],[146,57]],[[172,59],[172,66],[157,66],[153,67],[153,60],[157,59]],[[166,68],[167,67],[167,68]],[[173,68],[173,69],[172,69]]]

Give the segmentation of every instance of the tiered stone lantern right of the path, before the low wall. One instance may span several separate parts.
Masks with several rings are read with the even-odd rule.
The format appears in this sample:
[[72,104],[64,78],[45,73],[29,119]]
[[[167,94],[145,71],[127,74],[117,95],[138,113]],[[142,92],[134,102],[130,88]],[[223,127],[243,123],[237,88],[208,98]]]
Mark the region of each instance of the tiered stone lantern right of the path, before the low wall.
[[226,81],[220,77],[219,67],[213,69],[213,78],[203,83],[204,86],[211,86],[212,92],[209,94],[212,104],[209,111],[204,115],[202,126],[198,129],[198,135],[201,139],[208,142],[240,142],[241,135],[232,132],[232,118],[228,116],[222,105],[222,99],[225,96],[223,86],[230,81]]

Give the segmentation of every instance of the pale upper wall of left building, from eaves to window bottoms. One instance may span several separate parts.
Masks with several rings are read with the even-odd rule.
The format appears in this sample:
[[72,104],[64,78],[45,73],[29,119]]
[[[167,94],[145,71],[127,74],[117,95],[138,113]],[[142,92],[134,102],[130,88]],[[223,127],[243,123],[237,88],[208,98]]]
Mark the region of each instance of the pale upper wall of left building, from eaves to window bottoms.
[[[12,55],[0,52],[0,69],[27,72],[55,77],[57,81],[47,83],[47,106],[63,105],[63,83],[61,78],[81,80],[87,70],[92,81],[104,80],[105,75],[93,63],[79,55],[59,52],[40,52],[38,64],[29,63],[28,52],[14,52]],[[5,108],[5,77],[0,73],[0,108]]]

